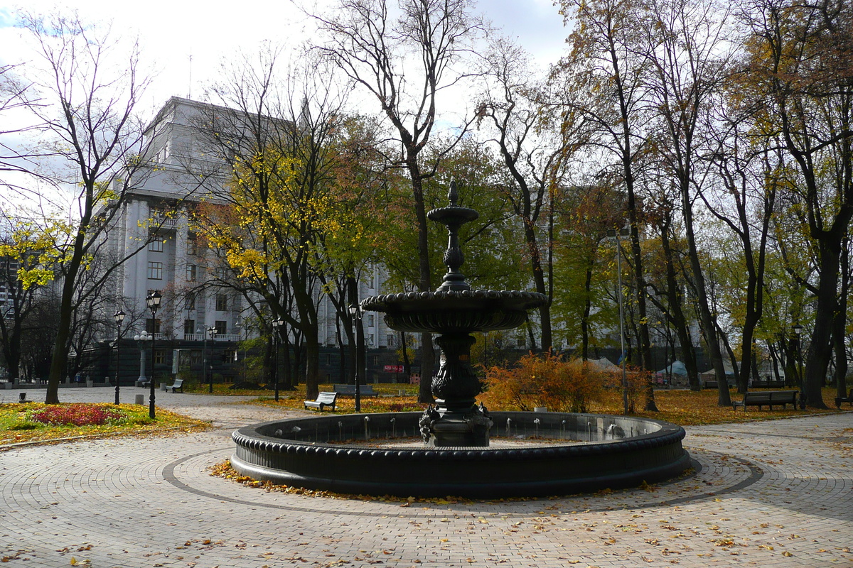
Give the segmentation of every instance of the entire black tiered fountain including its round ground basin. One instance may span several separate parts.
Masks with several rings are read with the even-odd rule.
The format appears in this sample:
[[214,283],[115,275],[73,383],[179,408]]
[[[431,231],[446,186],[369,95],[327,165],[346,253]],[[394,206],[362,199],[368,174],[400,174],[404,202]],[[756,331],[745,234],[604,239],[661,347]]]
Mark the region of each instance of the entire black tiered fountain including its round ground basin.
[[[436,406],[423,413],[317,416],[266,422],[233,434],[231,465],[254,479],[322,491],[397,496],[547,496],[669,479],[690,467],[684,429],[628,416],[489,412],[476,403],[474,331],[508,330],[542,294],[472,290],[459,228],[477,219],[457,205],[427,216],[448,228],[448,272],[438,290],[375,295],[361,306],[394,330],[438,334]],[[420,435],[422,444],[411,439]],[[490,435],[502,436],[490,445]]]

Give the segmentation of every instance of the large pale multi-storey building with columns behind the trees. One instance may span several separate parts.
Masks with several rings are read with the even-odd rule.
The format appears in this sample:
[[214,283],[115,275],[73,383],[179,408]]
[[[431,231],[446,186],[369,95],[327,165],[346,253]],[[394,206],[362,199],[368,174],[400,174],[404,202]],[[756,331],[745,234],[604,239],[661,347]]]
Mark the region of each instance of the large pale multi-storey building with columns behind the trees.
[[[202,112],[218,109],[233,112],[179,97],[165,103],[146,133],[152,168],[131,180],[115,228],[107,232],[109,247],[119,255],[131,254],[152,237],[119,269],[116,283],[119,295],[134,307],[144,307],[153,290],[164,296],[158,321],[148,314],[146,324],[158,339],[200,341],[203,330],[213,327],[218,332],[215,341],[238,341],[247,333],[240,329],[242,319],[252,315],[240,294],[210,285],[222,267],[212,251],[198,244],[189,223],[189,210],[203,200],[215,202],[211,188],[221,189],[226,179],[223,162],[212,158],[217,152],[204,146],[196,125]],[[381,281],[381,271],[374,270],[359,284],[359,296],[378,294]],[[334,307],[319,292],[317,298],[320,342],[336,346]],[[376,314],[367,314],[363,324],[368,348],[395,341]]]

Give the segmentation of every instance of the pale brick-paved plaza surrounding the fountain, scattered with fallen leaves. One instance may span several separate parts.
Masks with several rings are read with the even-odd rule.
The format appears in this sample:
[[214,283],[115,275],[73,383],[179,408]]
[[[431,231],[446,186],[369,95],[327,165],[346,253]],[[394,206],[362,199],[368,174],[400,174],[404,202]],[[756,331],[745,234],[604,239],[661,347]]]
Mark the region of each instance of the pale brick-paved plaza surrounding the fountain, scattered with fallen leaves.
[[[137,393],[146,391],[127,387],[122,398]],[[113,390],[69,388],[60,397],[109,402]],[[651,491],[406,507],[270,493],[211,477],[208,468],[229,457],[236,427],[286,415],[232,398],[157,397],[215,428],[0,451],[4,562],[853,566],[853,412],[688,427],[684,445],[698,471]],[[17,399],[17,391],[0,391],[0,401]]]

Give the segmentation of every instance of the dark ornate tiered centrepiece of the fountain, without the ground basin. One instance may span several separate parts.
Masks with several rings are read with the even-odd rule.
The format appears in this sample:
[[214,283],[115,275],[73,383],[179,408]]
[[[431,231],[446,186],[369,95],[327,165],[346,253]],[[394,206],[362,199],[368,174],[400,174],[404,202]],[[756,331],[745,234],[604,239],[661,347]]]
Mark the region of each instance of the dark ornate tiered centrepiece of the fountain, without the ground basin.
[[515,290],[472,290],[459,269],[465,262],[459,246],[459,228],[479,216],[474,209],[457,205],[456,182],[450,184],[450,205],[427,213],[447,227],[444,252],[447,273],[434,292],[375,295],[362,301],[366,311],[386,313],[394,330],[437,333],[441,366],[432,377],[437,406],[421,418],[421,433],[431,445],[488,446],[492,422],[488,411],[476,404],[481,391],[471,366],[473,331],[509,330],[525,320],[527,310],[542,306],[542,294]]

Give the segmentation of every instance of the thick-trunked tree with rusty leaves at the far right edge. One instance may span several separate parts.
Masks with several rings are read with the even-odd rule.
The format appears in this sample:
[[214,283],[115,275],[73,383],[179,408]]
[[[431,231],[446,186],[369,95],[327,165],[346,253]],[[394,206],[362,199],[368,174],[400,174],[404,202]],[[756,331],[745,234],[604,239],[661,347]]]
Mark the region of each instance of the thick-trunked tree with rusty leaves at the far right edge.
[[[803,396],[809,406],[825,408],[821,386],[832,358],[833,326],[840,327],[833,318],[853,220],[853,7],[762,0],[746,7],[742,18],[751,33],[743,92],[767,107],[796,164],[790,182],[817,252],[819,280],[800,278],[817,301]],[[843,388],[839,382],[839,393]]]

